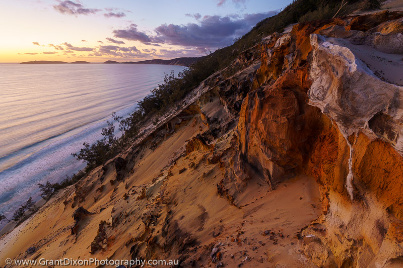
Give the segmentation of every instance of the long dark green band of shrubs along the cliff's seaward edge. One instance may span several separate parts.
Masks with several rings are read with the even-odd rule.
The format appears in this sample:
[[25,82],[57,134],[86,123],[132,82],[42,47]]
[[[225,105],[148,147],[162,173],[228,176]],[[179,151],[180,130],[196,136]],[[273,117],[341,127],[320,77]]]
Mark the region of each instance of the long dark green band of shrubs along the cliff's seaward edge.
[[[366,0],[377,1],[377,0]],[[139,130],[145,121],[153,116],[167,115],[178,109],[178,103],[201,81],[228,66],[243,50],[252,47],[263,37],[274,32],[281,32],[286,26],[308,20],[329,19],[335,14],[343,15],[357,3],[350,1],[346,4],[340,0],[295,0],[276,16],[266,18],[242,38],[234,39],[234,44],[201,58],[180,72],[177,77],[167,74],[164,82],[158,85],[149,95],[138,103],[138,110],[128,118],[113,115],[122,131],[120,138],[114,137],[112,123],[102,130],[103,138],[94,144],[84,143],[84,148],[78,154],[73,154],[78,160],[87,162],[86,170],[101,165],[110,159],[120,149],[126,147],[137,138]],[[346,5],[345,5],[346,4]],[[156,125],[157,120],[153,123]]]

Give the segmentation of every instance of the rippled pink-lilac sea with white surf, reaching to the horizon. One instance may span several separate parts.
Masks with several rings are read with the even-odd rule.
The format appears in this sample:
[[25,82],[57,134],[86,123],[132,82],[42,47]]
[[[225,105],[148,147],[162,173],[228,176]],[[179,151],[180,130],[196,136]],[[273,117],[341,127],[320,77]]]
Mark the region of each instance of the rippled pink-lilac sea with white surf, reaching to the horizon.
[[143,64],[0,64],[0,214],[38,200],[38,183],[83,168],[71,155],[101,137],[184,67]]

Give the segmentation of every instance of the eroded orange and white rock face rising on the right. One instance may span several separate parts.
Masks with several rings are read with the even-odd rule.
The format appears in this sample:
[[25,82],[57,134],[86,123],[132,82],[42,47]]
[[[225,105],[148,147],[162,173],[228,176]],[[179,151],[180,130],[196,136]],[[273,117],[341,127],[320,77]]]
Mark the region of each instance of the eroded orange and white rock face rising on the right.
[[[272,189],[300,172],[316,178],[323,214],[300,245],[318,266],[397,265],[403,254],[403,69],[401,55],[387,69],[380,53],[403,54],[401,16],[297,25],[266,38],[258,78],[267,85],[242,104],[234,173],[244,182],[260,176]],[[379,55],[384,72],[369,55]],[[384,79],[395,69],[398,77]]]

